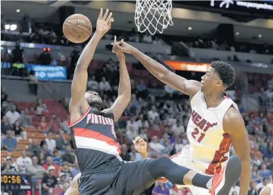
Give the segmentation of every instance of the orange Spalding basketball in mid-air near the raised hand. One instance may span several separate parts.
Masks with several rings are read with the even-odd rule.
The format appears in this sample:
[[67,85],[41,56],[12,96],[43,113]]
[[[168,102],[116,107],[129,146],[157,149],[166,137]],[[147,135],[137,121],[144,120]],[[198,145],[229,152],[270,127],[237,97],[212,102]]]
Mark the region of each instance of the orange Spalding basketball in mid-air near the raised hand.
[[63,32],[68,41],[82,43],[91,36],[92,24],[83,14],[73,14],[64,21]]

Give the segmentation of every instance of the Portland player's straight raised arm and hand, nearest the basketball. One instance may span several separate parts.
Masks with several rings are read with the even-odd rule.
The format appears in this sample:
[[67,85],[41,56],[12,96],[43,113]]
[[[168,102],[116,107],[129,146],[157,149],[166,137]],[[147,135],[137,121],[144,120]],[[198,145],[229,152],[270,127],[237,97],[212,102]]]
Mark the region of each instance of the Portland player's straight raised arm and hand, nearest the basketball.
[[[73,81],[71,85],[71,99],[69,103],[69,110],[78,103],[84,101],[84,93],[86,92],[87,85],[87,68],[93,59],[95,49],[100,42],[100,39],[109,31],[111,23],[113,21],[112,12],[109,14],[109,10],[103,15],[103,10],[100,10],[99,17],[97,18],[97,28],[91,40],[87,43],[86,47],[82,51],[82,54],[77,61]],[[88,104],[85,104],[86,107]],[[85,109],[84,109],[85,110]]]

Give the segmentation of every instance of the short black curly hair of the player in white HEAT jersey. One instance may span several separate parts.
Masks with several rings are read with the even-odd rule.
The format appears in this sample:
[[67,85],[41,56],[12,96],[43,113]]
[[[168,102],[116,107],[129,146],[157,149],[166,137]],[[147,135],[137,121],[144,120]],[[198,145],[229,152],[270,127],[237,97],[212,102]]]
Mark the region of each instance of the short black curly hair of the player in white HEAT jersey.
[[226,61],[213,61],[210,63],[211,67],[219,74],[223,83],[227,88],[234,83],[235,71],[232,65]]

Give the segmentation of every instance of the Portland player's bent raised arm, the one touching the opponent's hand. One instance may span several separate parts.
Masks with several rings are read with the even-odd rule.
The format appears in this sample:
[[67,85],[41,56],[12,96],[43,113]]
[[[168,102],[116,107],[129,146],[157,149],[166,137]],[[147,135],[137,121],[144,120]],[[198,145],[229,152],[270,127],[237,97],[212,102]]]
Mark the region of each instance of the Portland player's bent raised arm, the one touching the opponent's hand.
[[128,70],[126,68],[124,52],[117,50],[116,37],[113,44],[113,53],[117,55],[120,61],[120,84],[118,86],[117,99],[111,106],[111,108],[103,110],[102,112],[112,112],[115,117],[115,121],[120,119],[125,108],[131,101],[131,82]]

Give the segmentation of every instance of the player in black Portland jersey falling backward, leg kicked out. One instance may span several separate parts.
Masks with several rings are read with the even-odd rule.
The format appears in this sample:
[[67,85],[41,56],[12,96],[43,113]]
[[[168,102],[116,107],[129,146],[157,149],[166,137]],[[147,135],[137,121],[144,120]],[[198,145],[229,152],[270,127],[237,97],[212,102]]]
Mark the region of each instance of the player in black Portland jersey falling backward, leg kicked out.
[[[97,92],[86,92],[87,69],[100,39],[111,28],[112,13],[100,11],[97,28],[77,61],[71,85],[68,127],[79,163],[79,194],[81,195],[139,195],[158,178],[167,178],[178,185],[194,185],[204,189],[217,189],[214,194],[225,195],[241,173],[238,157],[230,158],[224,172],[229,181],[220,185],[218,177],[198,174],[173,163],[169,158],[144,159],[127,163],[120,157],[120,145],[115,136],[115,122],[131,100],[131,83],[125,56],[113,43],[113,52],[120,61],[120,85],[113,105],[101,110],[102,99]],[[239,167],[239,169],[234,169]]]

